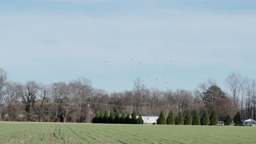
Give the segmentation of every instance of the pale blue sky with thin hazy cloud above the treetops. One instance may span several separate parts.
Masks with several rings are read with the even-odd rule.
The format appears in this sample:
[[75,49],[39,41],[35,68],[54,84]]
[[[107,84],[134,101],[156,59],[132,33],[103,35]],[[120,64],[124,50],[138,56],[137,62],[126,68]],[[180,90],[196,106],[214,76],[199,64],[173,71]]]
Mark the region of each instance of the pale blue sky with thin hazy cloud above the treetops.
[[107,92],[190,91],[256,78],[253,0],[0,1],[0,68],[11,81],[90,79]]

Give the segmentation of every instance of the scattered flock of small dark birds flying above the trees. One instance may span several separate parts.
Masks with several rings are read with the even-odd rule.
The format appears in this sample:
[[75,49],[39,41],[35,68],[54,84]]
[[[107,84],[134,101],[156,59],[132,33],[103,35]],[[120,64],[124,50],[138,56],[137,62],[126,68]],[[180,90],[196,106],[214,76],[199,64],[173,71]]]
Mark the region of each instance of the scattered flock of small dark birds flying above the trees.
[[[157,55],[159,56],[159,52],[157,53]],[[212,53],[212,55],[215,55],[215,53]],[[135,58],[131,58],[131,61],[133,61],[132,65],[135,66],[135,62],[136,62]],[[158,58],[155,58],[155,61],[158,61]],[[184,59],[179,59],[179,61],[184,61]],[[173,59],[171,61],[168,61],[169,65],[167,68],[165,68],[164,70],[161,71],[161,74],[162,74],[161,77],[158,75],[158,78],[155,78],[153,80],[155,80],[155,81],[162,80],[164,83],[170,82],[171,81],[170,76],[174,76],[172,74],[171,67],[170,67],[171,63],[173,63],[173,62],[174,62]],[[106,64],[107,63],[108,63],[108,61],[106,61]],[[192,65],[193,62],[189,62],[189,64]],[[139,65],[143,65],[143,63],[140,62]],[[152,70],[152,66],[148,66],[148,71],[150,72],[150,70]],[[152,79],[152,77],[153,77],[153,74],[151,74],[151,73],[148,73],[148,75],[146,76],[147,79]],[[161,79],[161,78],[163,78],[163,79]],[[142,80],[142,82],[144,82],[144,80]],[[175,85],[175,83],[172,83],[172,85]]]

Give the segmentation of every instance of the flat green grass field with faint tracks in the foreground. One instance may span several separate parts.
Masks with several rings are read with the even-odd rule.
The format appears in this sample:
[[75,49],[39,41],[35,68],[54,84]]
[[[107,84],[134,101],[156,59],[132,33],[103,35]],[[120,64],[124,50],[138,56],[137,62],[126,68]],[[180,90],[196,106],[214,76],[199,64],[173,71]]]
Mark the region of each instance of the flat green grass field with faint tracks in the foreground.
[[255,143],[256,128],[185,125],[0,124],[0,143]]

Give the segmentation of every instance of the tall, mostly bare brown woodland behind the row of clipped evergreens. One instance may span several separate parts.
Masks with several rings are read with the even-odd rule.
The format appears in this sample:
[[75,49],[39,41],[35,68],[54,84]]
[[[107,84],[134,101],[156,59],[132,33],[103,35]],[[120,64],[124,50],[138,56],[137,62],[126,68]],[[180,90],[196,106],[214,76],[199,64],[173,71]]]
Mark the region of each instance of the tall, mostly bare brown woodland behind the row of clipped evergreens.
[[[0,68],[0,119],[1,121],[35,122],[91,122],[97,111],[113,109],[120,113],[165,115],[172,110],[177,117],[190,110],[202,116],[207,110],[218,111],[220,121],[229,115],[234,118],[240,111],[242,118],[255,118],[256,82],[254,79],[230,74],[224,80],[225,89],[214,80],[199,83],[194,91],[148,88],[137,78],[130,91],[107,93],[94,88],[89,79],[54,82],[49,85],[36,81],[12,82]],[[171,88],[171,86],[170,86]],[[22,118],[20,115],[23,115]]]

